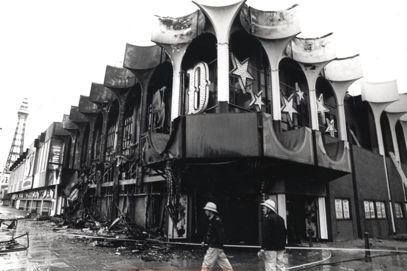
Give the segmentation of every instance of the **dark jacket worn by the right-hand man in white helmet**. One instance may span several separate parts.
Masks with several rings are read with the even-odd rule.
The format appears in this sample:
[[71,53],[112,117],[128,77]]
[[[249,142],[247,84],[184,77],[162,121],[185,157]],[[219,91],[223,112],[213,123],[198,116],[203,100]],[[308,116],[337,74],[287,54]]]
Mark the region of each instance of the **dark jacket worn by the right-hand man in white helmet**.
[[286,236],[287,230],[285,229],[284,219],[270,211],[263,220],[261,249],[284,250]]

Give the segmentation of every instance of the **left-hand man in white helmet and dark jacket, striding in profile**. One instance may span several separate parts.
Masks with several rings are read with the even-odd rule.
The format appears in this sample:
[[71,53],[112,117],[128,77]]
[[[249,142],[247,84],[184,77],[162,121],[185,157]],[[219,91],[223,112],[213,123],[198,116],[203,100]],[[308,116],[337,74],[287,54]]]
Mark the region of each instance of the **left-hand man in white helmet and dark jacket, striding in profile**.
[[208,231],[203,238],[201,246],[209,246],[205,258],[203,258],[202,269],[209,270],[214,267],[215,262],[219,264],[222,270],[233,270],[225,253],[223,252],[224,230],[222,220],[218,216],[216,204],[208,202],[205,207],[205,214],[209,218]]

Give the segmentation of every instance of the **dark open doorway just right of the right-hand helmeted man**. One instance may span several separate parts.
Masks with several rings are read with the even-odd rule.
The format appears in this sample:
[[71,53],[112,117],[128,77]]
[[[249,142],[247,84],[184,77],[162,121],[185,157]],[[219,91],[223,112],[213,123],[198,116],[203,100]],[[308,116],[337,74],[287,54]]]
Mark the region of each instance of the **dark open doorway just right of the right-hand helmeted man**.
[[302,195],[286,195],[285,208],[287,218],[287,242],[300,244],[301,240],[309,238],[308,230],[312,229],[312,236],[317,236],[317,205],[316,198]]

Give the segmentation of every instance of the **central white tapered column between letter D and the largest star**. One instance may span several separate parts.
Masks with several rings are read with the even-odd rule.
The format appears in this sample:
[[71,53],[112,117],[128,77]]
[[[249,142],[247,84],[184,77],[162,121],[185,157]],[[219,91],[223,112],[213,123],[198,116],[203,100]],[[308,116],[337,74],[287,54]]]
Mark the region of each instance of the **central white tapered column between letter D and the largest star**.
[[207,6],[195,1],[203,13],[211,21],[217,40],[217,89],[220,113],[227,112],[229,103],[229,36],[235,17],[246,0],[228,6]]

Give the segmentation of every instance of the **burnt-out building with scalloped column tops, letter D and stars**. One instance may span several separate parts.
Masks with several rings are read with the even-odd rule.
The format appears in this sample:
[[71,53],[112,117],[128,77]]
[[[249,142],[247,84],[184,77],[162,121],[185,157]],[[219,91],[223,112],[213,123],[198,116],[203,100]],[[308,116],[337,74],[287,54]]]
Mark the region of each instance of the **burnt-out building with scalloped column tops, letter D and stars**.
[[229,244],[258,244],[267,198],[290,243],[407,233],[396,82],[348,95],[359,55],[337,58],[332,33],[297,37],[298,5],[197,6],[156,17],[156,45],[127,44],[123,67],[107,66],[64,115],[63,165],[75,173],[60,195],[84,183],[95,215],[126,213],[169,239],[201,240],[213,201]]

